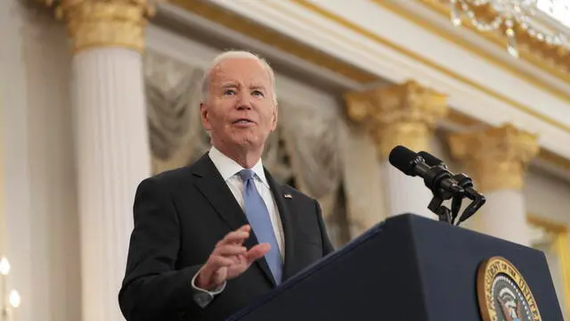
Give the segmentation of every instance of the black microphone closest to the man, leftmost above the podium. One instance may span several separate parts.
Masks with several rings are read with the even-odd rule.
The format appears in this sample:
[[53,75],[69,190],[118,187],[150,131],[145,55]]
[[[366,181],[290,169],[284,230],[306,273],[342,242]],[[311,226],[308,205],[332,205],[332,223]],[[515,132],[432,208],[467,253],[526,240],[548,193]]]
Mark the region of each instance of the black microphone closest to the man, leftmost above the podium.
[[388,156],[388,161],[396,169],[400,169],[405,175],[422,177],[424,183],[433,193],[439,193],[439,189],[451,193],[463,193],[463,188],[452,179],[452,173],[439,166],[428,166],[418,153],[398,145]]

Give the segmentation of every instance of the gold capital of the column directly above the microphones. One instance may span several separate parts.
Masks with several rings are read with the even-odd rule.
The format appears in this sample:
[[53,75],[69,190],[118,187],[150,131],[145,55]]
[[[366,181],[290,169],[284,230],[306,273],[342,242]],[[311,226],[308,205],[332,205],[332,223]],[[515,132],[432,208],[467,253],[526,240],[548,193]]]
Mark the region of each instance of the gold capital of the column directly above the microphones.
[[364,125],[384,160],[398,144],[428,151],[436,121],[448,112],[447,96],[415,81],[346,93],[348,117]]

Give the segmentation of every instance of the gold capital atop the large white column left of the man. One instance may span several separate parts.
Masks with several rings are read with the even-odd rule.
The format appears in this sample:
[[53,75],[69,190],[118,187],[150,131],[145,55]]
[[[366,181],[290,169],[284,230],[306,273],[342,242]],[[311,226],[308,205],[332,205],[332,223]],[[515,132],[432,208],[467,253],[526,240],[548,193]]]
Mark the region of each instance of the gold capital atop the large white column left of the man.
[[75,52],[119,46],[144,50],[144,27],[159,0],[44,0],[67,21]]

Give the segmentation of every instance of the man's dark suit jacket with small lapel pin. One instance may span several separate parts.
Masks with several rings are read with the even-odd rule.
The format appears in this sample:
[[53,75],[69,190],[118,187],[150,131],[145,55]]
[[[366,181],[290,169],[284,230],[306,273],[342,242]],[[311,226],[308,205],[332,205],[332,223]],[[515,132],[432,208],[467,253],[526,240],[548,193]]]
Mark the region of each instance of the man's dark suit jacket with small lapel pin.
[[[283,281],[333,251],[314,199],[280,185],[265,169],[285,239]],[[289,194],[288,197],[284,197]],[[126,276],[118,294],[128,321],[224,320],[276,285],[265,259],[227,282],[202,309],[191,278],[224,235],[248,224],[208,153],[188,167],[147,178],[134,198]],[[245,246],[257,243],[252,233]]]

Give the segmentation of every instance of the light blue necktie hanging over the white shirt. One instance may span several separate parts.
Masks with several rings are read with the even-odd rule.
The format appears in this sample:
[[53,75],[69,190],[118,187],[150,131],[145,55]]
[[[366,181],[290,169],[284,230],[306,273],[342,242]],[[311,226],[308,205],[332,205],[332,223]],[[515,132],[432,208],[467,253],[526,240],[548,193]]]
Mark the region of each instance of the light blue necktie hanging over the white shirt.
[[254,171],[252,169],[240,170],[240,177],[244,186],[245,212],[248,217],[249,224],[257,236],[259,243],[271,244],[271,250],[265,253],[267,265],[273,273],[276,284],[281,284],[282,259],[277,245],[277,239],[273,233],[271,218],[269,218],[269,210],[265,206],[265,202],[261,195],[257,192]]

